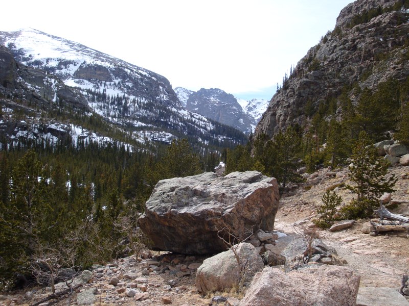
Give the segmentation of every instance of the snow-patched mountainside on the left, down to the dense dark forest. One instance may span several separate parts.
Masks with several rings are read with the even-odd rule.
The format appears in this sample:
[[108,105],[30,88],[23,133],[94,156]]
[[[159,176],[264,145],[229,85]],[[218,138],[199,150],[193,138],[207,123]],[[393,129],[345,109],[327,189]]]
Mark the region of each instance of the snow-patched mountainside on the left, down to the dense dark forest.
[[[70,137],[132,149],[188,138],[221,150],[246,140],[185,109],[169,81],[147,69],[34,29],[0,32],[0,45],[3,145]],[[98,120],[104,129],[92,128]]]

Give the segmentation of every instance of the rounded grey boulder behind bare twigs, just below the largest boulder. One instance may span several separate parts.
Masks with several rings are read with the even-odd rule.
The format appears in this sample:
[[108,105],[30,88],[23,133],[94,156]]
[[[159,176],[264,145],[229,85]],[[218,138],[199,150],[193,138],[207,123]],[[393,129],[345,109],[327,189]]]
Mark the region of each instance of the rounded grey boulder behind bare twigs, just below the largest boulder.
[[[240,243],[236,248],[240,264],[245,265],[245,281],[249,282],[254,273],[263,270],[264,264],[256,248],[250,243]],[[203,261],[197,269],[196,288],[206,294],[235,287],[240,282],[240,269],[234,252],[230,249]]]

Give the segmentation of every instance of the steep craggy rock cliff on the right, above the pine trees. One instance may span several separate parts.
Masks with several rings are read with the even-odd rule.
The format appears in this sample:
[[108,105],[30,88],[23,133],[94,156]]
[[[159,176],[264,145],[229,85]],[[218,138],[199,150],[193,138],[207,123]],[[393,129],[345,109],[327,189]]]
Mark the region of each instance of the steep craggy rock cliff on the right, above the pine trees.
[[374,90],[409,75],[407,2],[357,0],[339,14],[333,31],[308,50],[282,88],[272,97],[256,127],[256,135],[272,137],[279,129],[308,125],[320,105],[342,93],[356,103],[359,90]]

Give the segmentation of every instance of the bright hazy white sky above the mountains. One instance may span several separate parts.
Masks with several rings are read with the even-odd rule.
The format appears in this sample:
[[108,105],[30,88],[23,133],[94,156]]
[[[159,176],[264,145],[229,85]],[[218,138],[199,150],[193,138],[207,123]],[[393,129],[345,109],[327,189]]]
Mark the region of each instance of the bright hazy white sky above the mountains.
[[172,87],[270,99],[352,0],[2,3],[0,31],[34,28],[164,75]]

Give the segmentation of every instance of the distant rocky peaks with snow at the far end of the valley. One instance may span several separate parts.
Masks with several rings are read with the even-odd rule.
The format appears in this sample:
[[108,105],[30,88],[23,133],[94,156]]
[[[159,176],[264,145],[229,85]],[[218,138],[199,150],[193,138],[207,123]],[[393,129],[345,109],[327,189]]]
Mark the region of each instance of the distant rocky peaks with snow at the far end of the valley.
[[263,99],[247,101],[217,88],[202,88],[194,92],[183,87],[176,87],[175,92],[180,104],[189,111],[236,127],[247,134],[254,132],[269,103],[268,100]]

